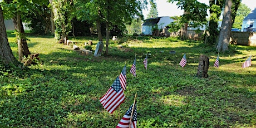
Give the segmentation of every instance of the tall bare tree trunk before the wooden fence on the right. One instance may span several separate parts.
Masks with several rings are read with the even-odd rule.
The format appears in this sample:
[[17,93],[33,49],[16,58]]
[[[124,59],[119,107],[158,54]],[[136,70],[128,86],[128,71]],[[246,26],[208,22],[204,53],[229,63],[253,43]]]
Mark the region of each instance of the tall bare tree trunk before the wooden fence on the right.
[[232,0],[226,0],[223,21],[220,28],[220,35],[216,50],[218,52],[228,51],[229,37],[231,33],[232,15],[231,15]]

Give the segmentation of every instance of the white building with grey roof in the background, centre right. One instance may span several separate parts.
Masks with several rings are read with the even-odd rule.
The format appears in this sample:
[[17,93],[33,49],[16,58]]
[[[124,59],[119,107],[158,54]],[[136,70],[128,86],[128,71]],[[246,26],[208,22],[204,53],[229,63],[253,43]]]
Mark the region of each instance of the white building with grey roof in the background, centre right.
[[141,34],[152,35],[152,29],[163,29],[171,22],[174,22],[174,19],[171,19],[168,16],[145,19],[141,27]]

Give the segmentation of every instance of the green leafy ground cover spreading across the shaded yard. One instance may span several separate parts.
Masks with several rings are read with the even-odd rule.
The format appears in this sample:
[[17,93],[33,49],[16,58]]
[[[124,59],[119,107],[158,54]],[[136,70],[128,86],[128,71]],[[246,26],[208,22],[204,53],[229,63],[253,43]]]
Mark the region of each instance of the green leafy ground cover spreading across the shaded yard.
[[[39,65],[23,71],[0,68],[0,127],[115,127],[137,92],[138,127],[256,127],[256,47],[218,53],[201,42],[176,38],[125,37],[110,42],[109,56],[93,57],[29,35]],[[16,39],[8,33],[14,56]],[[74,37],[78,47],[94,37]],[[122,45],[122,47],[120,47]],[[175,51],[174,53],[169,53]],[[142,61],[151,53],[147,70]],[[129,72],[136,53],[136,73]],[[187,65],[179,62],[186,53]],[[208,78],[196,77],[199,56],[210,58]],[[252,55],[252,66],[242,63]],[[127,62],[125,102],[109,114],[100,104]]]

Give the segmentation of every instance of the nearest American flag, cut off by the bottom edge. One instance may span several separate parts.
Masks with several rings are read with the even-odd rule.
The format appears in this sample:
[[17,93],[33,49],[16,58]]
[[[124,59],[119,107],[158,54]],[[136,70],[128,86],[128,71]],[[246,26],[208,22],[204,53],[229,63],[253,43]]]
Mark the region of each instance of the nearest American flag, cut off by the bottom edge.
[[[129,127],[131,113],[132,113],[132,106],[133,106],[133,104],[130,106],[129,110],[127,110],[126,114],[122,117],[122,119],[120,120],[120,122],[116,126],[116,128]],[[131,127],[135,128],[136,126],[137,126],[137,104],[135,102],[134,112],[132,114],[132,119],[131,119]]]

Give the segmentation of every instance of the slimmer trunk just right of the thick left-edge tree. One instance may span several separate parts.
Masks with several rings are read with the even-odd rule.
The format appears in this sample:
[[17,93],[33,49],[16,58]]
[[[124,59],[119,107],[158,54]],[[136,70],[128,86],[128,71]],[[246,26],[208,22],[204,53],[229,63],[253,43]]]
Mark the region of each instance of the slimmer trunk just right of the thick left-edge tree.
[[21,14],[17,12],[16,17],[12,19],[14,28],[18,32],[16,34],[17,43],[18,43],[18,58],[19,61],[23,60],[23,56],[28,57],[31,53],[28,50],[27,40],[25,36],[24,27],[21,20]]

